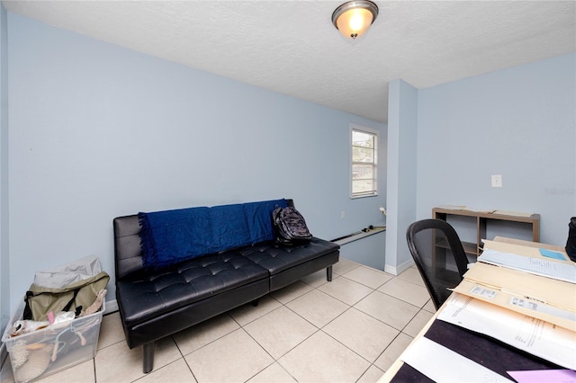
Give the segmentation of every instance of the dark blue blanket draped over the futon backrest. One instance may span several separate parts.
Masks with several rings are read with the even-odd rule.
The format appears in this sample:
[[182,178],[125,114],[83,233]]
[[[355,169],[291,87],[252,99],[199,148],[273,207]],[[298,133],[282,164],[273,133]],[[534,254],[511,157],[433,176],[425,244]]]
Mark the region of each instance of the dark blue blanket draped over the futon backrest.
[[170,264],[275,238],[272,211],[286,200],[175,209],[138,214],[142,264]]

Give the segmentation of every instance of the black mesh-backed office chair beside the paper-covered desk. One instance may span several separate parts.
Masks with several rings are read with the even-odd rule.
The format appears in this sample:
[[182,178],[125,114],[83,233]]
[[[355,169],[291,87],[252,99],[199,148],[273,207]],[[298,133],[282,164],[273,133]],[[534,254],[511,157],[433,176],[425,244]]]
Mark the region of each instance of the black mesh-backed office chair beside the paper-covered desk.
[[423,219],[406,230],[408,247],[434,307],[442,306],[462,280],[468,258],[454,227],[442,219]]

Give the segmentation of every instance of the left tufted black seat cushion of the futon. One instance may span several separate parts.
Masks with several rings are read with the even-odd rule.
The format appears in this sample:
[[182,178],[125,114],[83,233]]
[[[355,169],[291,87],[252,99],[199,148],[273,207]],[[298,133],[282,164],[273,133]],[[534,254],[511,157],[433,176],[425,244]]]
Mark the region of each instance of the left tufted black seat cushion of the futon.
[[116,292],[124,324],[136,325],[268,277],[265,268],[238,253],[227,252],[194,258],[157,272],[135,273],[116,281]]

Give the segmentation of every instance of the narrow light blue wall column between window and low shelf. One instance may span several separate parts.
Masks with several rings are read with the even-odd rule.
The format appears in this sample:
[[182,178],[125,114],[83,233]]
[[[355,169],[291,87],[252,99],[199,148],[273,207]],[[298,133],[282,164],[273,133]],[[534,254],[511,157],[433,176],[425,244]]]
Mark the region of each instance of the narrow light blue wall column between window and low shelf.
[[389,85],[386,266],[399,274],[411,265],[406,227],[416,217],[418,90],[405,81]]

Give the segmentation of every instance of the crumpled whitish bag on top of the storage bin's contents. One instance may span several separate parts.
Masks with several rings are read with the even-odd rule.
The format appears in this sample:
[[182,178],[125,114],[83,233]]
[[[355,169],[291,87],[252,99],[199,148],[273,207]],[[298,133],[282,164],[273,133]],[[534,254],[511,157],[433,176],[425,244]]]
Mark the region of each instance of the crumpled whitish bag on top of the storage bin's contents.
[[102,272],[100,261],[91,255],[45,272],[36,272],[34,284],[41,287],[59,289],[70,283],[94,277],[99,272]]

